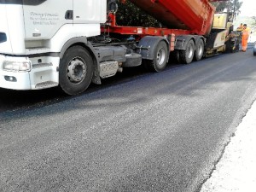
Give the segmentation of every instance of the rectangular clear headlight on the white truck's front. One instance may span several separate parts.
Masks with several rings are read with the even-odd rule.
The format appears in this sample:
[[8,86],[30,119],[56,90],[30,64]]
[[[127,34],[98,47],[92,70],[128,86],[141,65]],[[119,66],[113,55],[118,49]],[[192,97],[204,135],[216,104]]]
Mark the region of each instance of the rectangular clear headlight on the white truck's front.
[[28,72],[31,70],[31,62],[29,61],[3,61],[3,70]]

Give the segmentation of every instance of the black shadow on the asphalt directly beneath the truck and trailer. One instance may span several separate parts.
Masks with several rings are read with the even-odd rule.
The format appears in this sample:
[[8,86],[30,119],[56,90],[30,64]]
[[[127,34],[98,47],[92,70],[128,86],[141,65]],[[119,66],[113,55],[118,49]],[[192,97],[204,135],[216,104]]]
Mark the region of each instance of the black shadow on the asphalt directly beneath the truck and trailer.
[[[252,43],[248,44],[248,51],[247,51],[248,53],[246,53],[246,54],[249,55],[252,52],[252,49],[251,49],[252,47],[253,47]],[[238,53],[238,54],[240,54],[240,53]],[[251,55],[253,55],[253,53]],[[212,58],[217,59],[218,56],[212,57]],[[204,62],[207,60],[203,60],[200,62]],[[195,63],[200,63],[200,62],[195,62]],[[181,73],[180,75],[182,75],[183,73],[189,73],[189,70],[198,70],[198,73],[201,71],[200,69],[197,69],[196,66],[186,69],[187,67],[190,67],[190,66],[193,66],[193,65],[189,65],[189,66],[185,65],[184,66],[184,65],[180,65],[180,64],[171,62],[166,67],[166,73],[170,73],[169,70],[172,70],[173,68],[179,68],[179,67],[183,67],[183,72],[180,72]],[[205,69],[207,70],[207,68],[205,68]],[[145,72],[143,67],[125,68],[123,73],[118,73],[116,76],[114,76],[112,78],[103,79],[101,85],[91,84],[89,89],[86,90],[80,96],[86,96],[91,92],[95,92],[96,90],[101,90],[101,89],[104,89],[104,88],[107,88],[109,86],[113,86],[116,84],[122,84],[124,82],[128,82],[128,81],[137,79],[138,76],[147,76],[147,75],[150,75],[150,77],[153,78],[153,76],[159,76],[162,74],[147,73],[147,72]],[[195,73],[195,76],[196,75],[197,75],[197,73]],[[179,80],[179,84],[186,84],[189,82],[189,78],[195,78],[195,76],[193,76],[193,77],[188,76],[185,79],[181,79],[181,80]],[[150,79],[148,79],[148,81],[152,80],[152,79],[151,80]],[[163,79],[166,79],[166,77],[164,77],[164,74],[163,74],[163,79],[160,79],[160,78],[158,78],[158,79],[161,81]],[[168,79],[168,77],[167,77],[167,79]],[[170,82],[170,86],[171,86],[171,84],[173,84],[173,82]],[[167,86],[166,89],[168,89],[168,87],[170,87],[170,86]],[[64,101],[66,99],[70,99],[73,97],[78,97],[78,96],[67,96],[63,92],[61,92],[61,90],[58,88],[51,88],[51,89],[47,89],[47,90],[5,90],[5,89],[0,89],[0,113],[9,111],[9,110],[17,110],[20,108],[38,108],[38,107],[47,106],[47,105],[50,105],[50,104],[53,104],[56,102],[61,102],[61,101]]]

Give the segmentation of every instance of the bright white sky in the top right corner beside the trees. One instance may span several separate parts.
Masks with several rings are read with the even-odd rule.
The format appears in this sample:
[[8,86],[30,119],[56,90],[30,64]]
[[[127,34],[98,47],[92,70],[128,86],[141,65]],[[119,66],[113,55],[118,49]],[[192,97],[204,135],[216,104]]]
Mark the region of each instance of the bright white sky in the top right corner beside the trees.
[[256,16],[256,0],[239,0],[241,5],[240,16]]

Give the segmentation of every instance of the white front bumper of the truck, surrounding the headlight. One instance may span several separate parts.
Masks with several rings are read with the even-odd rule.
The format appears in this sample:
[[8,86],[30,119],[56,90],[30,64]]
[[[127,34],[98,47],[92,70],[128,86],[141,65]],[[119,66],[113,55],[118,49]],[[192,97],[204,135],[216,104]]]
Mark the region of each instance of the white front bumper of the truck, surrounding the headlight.
[[[11,57],[0,55],[0,88],[10,90],[41,90],[58,85],[58,72],[56,67],[59,58],[47,57],[48,62],[32,64],[26,57]],[[8,70],[3,68],[4,61],[17,61],[31,63],[27,71]]]

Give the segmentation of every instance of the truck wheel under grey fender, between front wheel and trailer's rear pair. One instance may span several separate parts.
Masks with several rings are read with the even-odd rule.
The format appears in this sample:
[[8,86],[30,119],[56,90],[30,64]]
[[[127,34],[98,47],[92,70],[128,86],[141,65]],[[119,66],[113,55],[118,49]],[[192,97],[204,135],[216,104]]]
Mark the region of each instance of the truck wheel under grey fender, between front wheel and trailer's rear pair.
[[154,59],[148,60],[146,63],[148,65],[148,69],[152,72],[163,71],[166,68],[167,58],[167,45],[164,41],[160,41],[160,43],[154,49]]

